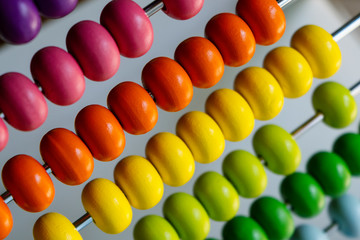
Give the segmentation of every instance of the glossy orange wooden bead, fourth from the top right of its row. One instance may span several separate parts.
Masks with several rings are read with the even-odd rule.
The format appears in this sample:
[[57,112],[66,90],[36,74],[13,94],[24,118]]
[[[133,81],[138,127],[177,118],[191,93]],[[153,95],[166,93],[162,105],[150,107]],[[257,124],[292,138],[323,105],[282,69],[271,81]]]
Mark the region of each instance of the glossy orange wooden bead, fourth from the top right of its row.
[[193,85],[185,70],[167,57],[154,58],[141,74],[144,88],[155,97],[156,104],[165,111],[177,112],[191,102]]

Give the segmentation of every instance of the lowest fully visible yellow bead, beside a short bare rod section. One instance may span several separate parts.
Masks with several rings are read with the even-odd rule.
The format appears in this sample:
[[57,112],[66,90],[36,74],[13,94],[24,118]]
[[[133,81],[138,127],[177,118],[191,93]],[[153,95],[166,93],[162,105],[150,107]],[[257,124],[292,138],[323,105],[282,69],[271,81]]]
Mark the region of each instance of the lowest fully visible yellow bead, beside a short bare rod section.
[[81,200],[96,226],[105,233],[118,234],[131,223],[130,203],[110,180],[97,178],[86,184]]

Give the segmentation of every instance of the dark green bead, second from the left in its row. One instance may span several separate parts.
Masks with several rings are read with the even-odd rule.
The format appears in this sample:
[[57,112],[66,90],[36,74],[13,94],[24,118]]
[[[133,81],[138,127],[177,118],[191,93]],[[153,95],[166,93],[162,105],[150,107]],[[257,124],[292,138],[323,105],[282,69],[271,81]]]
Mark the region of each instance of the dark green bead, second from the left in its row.
[[273,197],[261,197],[250,207],[250,217],[259,223],[271,240],[289,239],[294,220],[285,204]]

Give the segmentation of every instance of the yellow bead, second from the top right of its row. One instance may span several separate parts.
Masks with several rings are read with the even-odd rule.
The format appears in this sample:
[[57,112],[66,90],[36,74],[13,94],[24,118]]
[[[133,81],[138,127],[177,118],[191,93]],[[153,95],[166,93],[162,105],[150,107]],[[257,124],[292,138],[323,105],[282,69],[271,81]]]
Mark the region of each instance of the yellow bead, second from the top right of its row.
[[266,55],[264,68],[276,78],[287,98],[301,97],[311,87],[311,67],[303,55],[294,48],[275,48]]

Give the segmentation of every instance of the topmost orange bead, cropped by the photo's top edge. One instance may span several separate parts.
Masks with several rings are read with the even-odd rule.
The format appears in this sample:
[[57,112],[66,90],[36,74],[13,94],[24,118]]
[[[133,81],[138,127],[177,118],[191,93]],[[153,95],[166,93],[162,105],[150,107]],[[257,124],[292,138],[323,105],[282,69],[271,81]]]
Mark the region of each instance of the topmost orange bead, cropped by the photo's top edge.
[[236,13],[249,25],[257,44],[273,44],[285,32],[285,14],[276,0],[239,0]]

